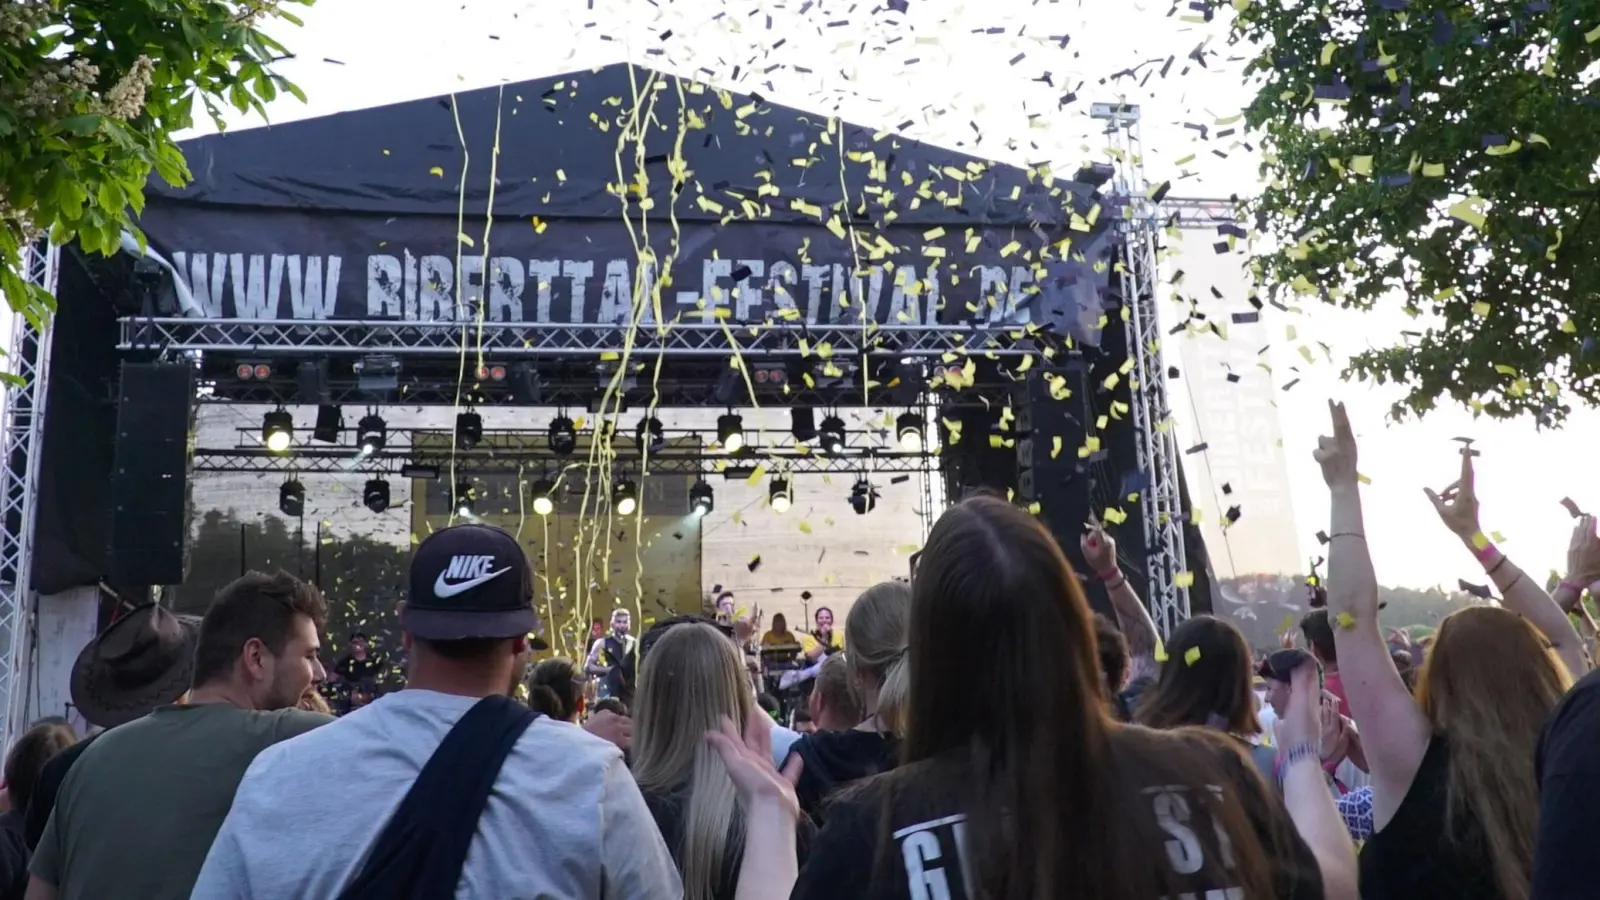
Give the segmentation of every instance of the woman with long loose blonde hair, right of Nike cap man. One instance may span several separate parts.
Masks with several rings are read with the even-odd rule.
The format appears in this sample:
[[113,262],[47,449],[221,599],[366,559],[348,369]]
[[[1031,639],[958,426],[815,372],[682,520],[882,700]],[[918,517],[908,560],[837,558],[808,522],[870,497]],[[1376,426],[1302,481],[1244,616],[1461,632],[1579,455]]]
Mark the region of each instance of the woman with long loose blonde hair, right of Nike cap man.
[[758,722],[752,705],[738,647],[709,625],[680,625],[645,657],[634,777],[678,865],[686,900],[734,897],[744,814],[706,733],[723,719]]

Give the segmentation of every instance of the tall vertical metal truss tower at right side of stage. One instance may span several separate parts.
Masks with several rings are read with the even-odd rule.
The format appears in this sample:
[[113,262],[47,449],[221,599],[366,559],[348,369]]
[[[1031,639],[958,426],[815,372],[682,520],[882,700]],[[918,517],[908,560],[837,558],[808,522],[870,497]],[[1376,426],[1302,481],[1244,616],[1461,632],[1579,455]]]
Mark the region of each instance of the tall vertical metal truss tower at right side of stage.
[[[1128,104],[1094,104],[1093,115],[1106,120],[1107,136],[1117,147],[1115,194],[1126,203],[1128,215],[1117,223],[1123,231],[1126,259],[1122,266],[1122,295],[1130,311],[1131,407],[1139,471],[1150,476],[1142,500],[1144,546],[1149,549],[1149,588],[1146,602],[1155,628],[1170,636],[1189,618],[1189,564],[1184,552],[1182,496],[1178,480],[1178,444],[1173,437],[1171,410],[1166,400],[1166,365],[1162,362],[1162,323],[1157,315],[1155,288],[1160,271],[1155,261],[1155,235],[1165,227],[1162,205],[1150,202],[1144,178],[1144,143],[1139,136],[1139,107]],[[1205,227],[1205,226],[1200,226]]]

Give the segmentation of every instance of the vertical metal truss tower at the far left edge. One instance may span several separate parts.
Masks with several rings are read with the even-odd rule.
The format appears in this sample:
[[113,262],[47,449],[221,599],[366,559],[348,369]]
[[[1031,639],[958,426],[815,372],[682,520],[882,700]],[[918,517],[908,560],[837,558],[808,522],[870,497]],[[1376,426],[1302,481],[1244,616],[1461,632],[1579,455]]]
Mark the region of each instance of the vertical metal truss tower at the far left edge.
[[[24,277],[54,293],[61,250],[54,245],[22,250]],[[21,298],[18,298],[21,299]],[[13,303],[21,306],[21,303]],[[27,692],[37,655],[34,634],[34,528],[38,519],[38,468],[45,442],[45,400],[50,394],[50,336],[26,315],[11,315],[6,372],[21,380],[6,388],[0,466],[0,746],[27,725]]]

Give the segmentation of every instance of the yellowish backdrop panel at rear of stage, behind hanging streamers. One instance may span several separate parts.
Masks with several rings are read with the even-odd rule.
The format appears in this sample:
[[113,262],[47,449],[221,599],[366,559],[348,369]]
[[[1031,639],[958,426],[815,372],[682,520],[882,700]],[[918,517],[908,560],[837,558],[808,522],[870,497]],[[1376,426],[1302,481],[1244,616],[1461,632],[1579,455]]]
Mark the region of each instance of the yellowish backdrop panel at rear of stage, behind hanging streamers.
[[[450,432],[419,432],[418,450],[429,456],[450,456]],[[699,453],[694,437],[670,439],[661,456]],[[549,453],[542,436],[485,434],[475,453]],[[589,623],[608,618],[613,609],[634,613],[637,634],[648,623],[674,615],[699,613],[701,520],[690,514],[688,474],[640,477],[640,512],[619,516],[611,508],[602,471],[622,477],[603,460],[590,460],[589,436],[579,432],[578,448],[546,466],[530,466],[520,474],[483,474],[472,458],[461,455],[458,471],[445,466],[437,479],[413,479],[411,527],[416,540],[450,524],[483,522],[517,535],[533,564],[534,599],[546,623],[552,655],[582,655]],[[482,456],[478,456],[482,460]],[[469,474],[470,472],[470,474]],[[555,509],[539,516],[533,509],[534,482],[557,482]],[[459,514],[454,485],[470,485],[472,511]]]

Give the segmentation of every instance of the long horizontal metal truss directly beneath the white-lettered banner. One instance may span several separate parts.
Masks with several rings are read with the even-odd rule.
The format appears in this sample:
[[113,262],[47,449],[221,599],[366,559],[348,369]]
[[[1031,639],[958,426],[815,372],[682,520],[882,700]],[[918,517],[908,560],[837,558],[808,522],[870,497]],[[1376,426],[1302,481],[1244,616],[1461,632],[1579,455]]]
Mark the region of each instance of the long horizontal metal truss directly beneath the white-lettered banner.
[[[670,327],[562,322],[392,322],[293,319],[123,319],[123,351],[269,356],[458,356],[506,359],[606,357],[942,357],[966,351],[1022,356],[1038,352],[1022,325],[733,325],[678,322]],[[819,351],[819,348],[827,348]]]

